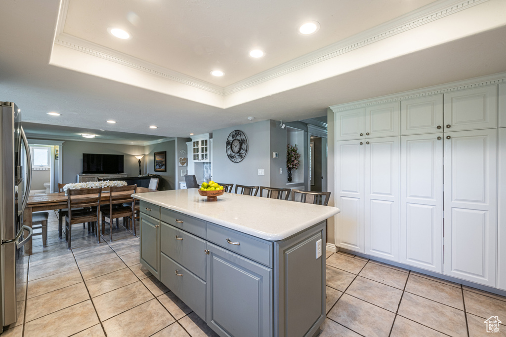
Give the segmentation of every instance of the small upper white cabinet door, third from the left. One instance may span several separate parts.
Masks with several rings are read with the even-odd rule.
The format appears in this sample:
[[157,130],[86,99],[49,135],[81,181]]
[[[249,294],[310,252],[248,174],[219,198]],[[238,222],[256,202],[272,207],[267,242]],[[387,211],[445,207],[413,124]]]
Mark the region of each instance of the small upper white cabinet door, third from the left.
[[401,135],[443,131],[443,95],[401,101]]

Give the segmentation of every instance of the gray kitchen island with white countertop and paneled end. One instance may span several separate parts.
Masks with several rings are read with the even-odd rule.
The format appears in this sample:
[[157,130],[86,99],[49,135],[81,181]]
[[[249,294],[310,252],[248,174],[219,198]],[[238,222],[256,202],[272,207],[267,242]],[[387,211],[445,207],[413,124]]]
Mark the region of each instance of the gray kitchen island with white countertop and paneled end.
[[[140,260],[221,336],[315,336],[334,207],[197,189],[140,199]],[[320,249],[318,249],[320,247]]]

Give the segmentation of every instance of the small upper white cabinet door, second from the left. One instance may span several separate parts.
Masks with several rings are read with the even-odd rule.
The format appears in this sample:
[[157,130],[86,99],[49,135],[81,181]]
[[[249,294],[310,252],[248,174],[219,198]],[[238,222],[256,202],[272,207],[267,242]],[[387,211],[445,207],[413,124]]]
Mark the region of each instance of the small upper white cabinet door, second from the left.
[[378,104],[365,108],[365,136],[398,136],[400,128],[400,103]]

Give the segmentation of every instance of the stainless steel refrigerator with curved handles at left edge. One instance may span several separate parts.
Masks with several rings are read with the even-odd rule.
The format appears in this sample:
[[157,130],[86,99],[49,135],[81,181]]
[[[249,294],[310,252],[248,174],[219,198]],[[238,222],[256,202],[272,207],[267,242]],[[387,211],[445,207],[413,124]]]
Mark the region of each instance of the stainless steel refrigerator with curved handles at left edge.
[[23,226],[23,210],[31,183],[31,159],[21,111],[0,102],[0,313],[2,328],[16,322],[25,299],[28,257],[23,245],[33,231]]

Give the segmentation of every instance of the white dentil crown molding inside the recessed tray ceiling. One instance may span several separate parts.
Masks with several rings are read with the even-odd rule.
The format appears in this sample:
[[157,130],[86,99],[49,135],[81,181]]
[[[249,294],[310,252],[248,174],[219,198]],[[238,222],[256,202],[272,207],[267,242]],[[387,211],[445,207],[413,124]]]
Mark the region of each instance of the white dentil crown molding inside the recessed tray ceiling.
[[389,22],[378,25],[359,34],[351,36],[342,41],[333,43],[315,52],[309,53],[297,59],[291,60],[277,67],[266,70],[255,76],[248,77],[242,81],[226,87],[220,87],[191,76],[154,65],[144,60],[126,55],[96,43],[71,36],[63,32],[66,15],[70,0],[62,0],[60,13],[57,19],[54,43],[83,53],[93,55],[102,59],[109,60],[121,65],[138,69],[155,76],[160,76],[168,80],[180,82],[192,87],[213,92],[222,96],[240,91],[242,89],[255,86],[257,84],[269,81],[276,77],[298,71],[305,67],[323,62],[330,58],[348,53],[362,46],[374,43],[376,41],[402,33],[420,25],[438,20],[448,15],[460,12],[475,5],[487,2],[488,0],[440,0],[424,6],[418,10],[407,13],[395,18]]

